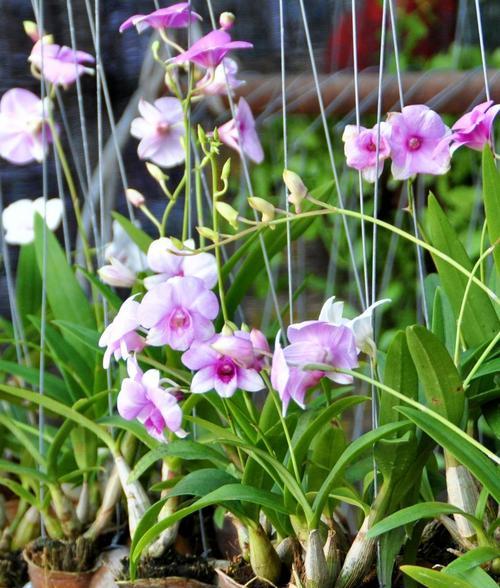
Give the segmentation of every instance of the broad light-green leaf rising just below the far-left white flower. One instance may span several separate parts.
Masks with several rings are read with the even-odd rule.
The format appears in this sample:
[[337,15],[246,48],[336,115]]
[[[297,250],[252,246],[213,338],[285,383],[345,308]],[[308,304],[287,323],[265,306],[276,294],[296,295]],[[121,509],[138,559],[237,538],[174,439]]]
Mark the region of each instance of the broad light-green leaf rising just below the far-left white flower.
[[[35,216],[35,248],[38,267],[42,273],[44,258],[44,221]],[[90,304],[80,287],[66,255],[50,230],[45,231],[47,239],[47,300],[54,317],[88,328],[95,328]]]

